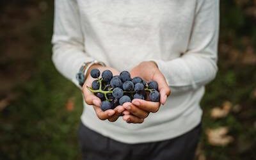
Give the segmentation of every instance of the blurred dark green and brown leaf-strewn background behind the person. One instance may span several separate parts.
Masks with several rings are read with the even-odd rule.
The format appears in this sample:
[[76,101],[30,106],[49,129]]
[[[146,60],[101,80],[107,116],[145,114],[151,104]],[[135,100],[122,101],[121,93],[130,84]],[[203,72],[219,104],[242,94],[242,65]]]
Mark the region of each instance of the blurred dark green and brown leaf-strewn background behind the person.
[[[221,0],[199,160],[256,159],[256,1]],[[81,92],[51,61],[53,1],[0,0],[0,159],[81,159]]]

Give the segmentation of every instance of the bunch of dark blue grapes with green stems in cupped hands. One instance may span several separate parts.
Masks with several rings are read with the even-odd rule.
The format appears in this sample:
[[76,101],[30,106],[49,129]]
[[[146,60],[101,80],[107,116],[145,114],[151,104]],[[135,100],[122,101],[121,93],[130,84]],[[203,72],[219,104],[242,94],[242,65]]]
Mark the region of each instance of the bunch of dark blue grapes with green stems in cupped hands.
[[132,99],[144,99],[159,102],[160,93],[156,81],[146,82],[141,77],[131,78],[131,74],[123,71],[120,75],[113,76],[110,70],[104,70],[100,77],[100,70],[93,68],[90,75],[95,78],[92,87],[88,87],[102,100],[102,111],[114,109]]

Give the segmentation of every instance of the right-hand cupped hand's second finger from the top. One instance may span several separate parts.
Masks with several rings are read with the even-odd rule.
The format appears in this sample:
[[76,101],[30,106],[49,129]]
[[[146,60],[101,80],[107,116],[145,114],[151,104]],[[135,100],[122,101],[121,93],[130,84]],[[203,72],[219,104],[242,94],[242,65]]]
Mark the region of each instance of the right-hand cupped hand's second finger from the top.
[[138,118],[146,118],[148,116],[148,112],[143,111],[142,109],[134,106],[131,102],[125,102],[123,104],[124,108],[127,109],[132,115],[137,116]]

